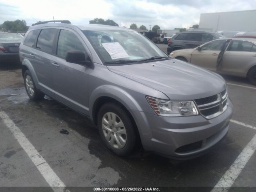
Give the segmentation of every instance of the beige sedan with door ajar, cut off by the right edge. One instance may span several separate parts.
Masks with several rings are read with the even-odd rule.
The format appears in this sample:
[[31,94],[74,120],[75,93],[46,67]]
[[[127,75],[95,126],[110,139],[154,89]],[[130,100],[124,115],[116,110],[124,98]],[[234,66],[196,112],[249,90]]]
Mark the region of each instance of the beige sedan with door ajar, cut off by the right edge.
[[220,74],[246,77],[256,85],[256,39],[219,39],[194,49],[174,51],[170,56]]

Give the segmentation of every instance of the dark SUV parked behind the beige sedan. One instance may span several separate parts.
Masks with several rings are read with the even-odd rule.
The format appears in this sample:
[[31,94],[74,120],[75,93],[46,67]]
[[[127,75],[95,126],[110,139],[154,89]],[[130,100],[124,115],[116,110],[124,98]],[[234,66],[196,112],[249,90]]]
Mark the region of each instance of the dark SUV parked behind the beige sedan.
[[197,47],[205,42],[224,38],[218,33],[202,32],[202,31],[187,31],[176,33],[173,38],[168,41],[167,53],[179,49],[188,49]]

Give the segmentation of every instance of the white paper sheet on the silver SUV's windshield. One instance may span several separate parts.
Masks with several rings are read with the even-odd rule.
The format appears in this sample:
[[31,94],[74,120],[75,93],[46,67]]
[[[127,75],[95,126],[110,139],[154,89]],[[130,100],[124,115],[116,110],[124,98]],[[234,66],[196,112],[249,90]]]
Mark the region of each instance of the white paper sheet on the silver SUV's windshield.
[[124,48],[118,43],[102,43],[102,46],[106,49],[112,59],[119,59],[129,57]]

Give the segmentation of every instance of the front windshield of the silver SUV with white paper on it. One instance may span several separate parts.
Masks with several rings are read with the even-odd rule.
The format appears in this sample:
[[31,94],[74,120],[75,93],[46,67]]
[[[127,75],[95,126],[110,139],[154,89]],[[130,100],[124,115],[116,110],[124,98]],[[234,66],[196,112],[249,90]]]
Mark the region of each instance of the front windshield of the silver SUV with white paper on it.
[[169,58],[138,32],[125,30],[84,30],[104,64],[142,62]]

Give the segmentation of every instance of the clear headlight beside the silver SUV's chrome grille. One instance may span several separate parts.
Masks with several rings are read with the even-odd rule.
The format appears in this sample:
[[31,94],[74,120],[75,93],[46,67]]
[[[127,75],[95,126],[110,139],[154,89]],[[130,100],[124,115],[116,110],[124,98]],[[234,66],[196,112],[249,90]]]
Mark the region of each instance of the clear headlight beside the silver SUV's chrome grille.
[[159,100],[148,96],[146,98],[152,109],[160,116],[177,117],[198,115],[198,110],[193,101]]

